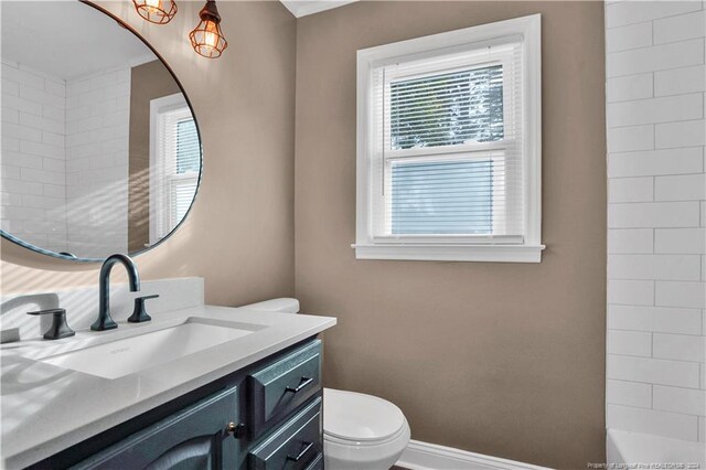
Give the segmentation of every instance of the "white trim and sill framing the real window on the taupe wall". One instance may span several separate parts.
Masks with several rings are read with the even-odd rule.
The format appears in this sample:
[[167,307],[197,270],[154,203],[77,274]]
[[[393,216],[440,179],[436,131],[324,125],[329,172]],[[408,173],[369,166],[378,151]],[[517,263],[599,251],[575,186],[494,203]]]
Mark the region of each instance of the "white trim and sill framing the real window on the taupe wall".
[[[372,71],[381,63],[410,54],[434,53],[500,38],[522,35],[523,72],[523,169],[525,236],[522,243],[507,237],[491,237],[492,243],[454,243],[453,237],[373,235],[372,214]],[[541,15],[517,18],[440,34],[396,42],[357,52],[357,162],[356,162],[356,242],[357,259],[406,259],[442,261],[541,263],[542,250],[542,51]],[[384,238],[384,239],[383,239]],[[396,239],[397,238],[397,239]],[[484,237],[488,238],[488,237]]]

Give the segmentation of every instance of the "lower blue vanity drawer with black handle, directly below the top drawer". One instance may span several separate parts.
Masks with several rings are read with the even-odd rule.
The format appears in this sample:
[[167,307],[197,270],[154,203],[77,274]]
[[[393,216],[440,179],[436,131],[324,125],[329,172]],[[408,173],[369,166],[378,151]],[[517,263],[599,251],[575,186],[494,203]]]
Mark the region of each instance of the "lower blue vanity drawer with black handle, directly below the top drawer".
[[[315,469],[322,456],[321,397],[317,397],[248,456],[253,470]],[[313,466],[313,467],[312,467]]]

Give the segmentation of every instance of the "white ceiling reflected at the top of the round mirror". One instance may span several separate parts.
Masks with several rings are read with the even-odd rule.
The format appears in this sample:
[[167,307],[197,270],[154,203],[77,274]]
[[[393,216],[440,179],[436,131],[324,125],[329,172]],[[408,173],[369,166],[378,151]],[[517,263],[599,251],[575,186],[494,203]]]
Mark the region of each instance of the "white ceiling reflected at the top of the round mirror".
[[2,58],[71,79],[157,58],[130,31],[78,1],[0,1]]

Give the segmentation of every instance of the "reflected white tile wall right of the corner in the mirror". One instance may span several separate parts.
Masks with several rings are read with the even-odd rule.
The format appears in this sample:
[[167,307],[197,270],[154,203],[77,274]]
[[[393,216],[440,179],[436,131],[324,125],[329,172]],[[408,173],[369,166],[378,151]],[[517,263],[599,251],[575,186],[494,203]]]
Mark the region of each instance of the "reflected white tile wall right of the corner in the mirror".
[[129,67],[66,81],[69,252],[127,252],[129,107]]

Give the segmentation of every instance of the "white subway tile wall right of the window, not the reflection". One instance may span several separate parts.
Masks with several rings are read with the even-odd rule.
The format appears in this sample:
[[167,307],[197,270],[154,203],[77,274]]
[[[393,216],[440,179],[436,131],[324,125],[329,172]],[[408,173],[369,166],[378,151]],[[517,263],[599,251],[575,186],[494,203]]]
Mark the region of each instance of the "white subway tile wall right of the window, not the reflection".
[[705,14],[606,4],[606,421],[689,441],[706,441]]

